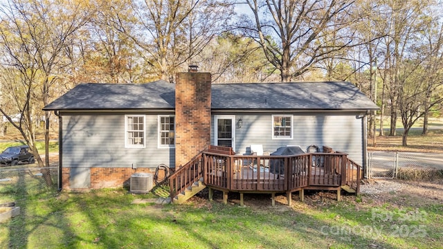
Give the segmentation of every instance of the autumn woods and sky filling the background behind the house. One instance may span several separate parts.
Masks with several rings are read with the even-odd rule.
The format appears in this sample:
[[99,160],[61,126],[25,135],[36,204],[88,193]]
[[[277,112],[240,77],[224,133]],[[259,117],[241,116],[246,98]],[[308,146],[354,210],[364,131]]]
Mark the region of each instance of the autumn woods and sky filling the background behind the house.
[[381,108],[370,135],[399,120],[406,146],[440,115],[442,13],[437,0],[2,1],[2,125],[37,155],[42,107],[76,84],[174,82],[197,64],[214,83],[350,81]]

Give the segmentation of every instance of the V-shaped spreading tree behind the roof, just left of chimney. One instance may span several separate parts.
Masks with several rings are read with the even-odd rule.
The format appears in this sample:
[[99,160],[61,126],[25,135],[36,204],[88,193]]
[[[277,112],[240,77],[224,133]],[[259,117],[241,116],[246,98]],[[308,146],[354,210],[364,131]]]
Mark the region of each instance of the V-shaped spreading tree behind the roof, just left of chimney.
[[223,31],[221,27],[232,10],[226,2],[134,1],[136,19],[122,21],[116,10],[114,27],[140,48],[140,55],[152,66],[150,73],[174,82],[175,72],[187,68],[185,63],[192,63],[210,40]]

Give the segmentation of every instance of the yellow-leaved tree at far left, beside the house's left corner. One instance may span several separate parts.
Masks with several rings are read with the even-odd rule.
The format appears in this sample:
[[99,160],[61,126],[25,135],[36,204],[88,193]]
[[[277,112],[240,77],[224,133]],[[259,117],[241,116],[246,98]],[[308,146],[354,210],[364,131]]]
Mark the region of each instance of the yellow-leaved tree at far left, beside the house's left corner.
[[[86,4],[86,3],[84,3]],[[3,106],[1,113],[18,129],[40,167],[49,167],[49,118],[50,113],[41,111],[51,100],[51,89],[60,79],[57,77],[66,61],[60,55],[69,37],[89,20],[88,6],[63,1],[10,0],[1,6],[0,50],[1,66],[8,77],[1,82],[6,86],[8,97],[20,113],[19,122],[13,122]],[[44,116],[46,120],[46,161],[42,161],[35,145],[34,119]],[[48,170],[42,170],[48,185],[52,184]]]

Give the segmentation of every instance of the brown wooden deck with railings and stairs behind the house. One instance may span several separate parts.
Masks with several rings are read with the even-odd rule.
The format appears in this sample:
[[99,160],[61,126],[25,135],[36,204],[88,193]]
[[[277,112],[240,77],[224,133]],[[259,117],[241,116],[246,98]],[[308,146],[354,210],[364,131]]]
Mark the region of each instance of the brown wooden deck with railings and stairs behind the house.
[[327,153],[307,153],[294,156],[239,156],[226,147],[210,147],[170,176],[171,197],[201,180],[213,190],[244,193],[283,192],[291,203],[292,192],[304,190],[336,190],[340,199],[342,189],[359,193],[361,167],[329,147]]

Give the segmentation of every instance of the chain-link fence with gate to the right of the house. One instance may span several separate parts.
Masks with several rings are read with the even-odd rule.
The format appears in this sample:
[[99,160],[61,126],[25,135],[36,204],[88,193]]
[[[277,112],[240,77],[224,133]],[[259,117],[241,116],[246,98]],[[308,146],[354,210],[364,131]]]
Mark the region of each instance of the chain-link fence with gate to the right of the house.
[[443,155],[373,151],[368,153],[368,178],[432,179],[443,177]]

